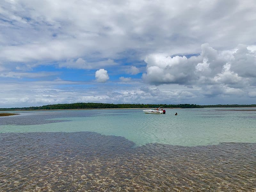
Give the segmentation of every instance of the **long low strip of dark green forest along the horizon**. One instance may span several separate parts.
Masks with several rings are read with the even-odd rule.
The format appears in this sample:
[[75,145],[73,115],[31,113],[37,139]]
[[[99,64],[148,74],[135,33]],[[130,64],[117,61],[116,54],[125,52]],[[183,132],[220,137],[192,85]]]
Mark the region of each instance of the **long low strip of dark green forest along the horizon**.
[[106,108],[210,108],[210,107],[256,107],[252,105],[196,105],[196,104],[109,104],[109,103],[71,103],[54,104],[40,107],[22,107],[22,108],[0,108],[0,110],[52,110],[52,109],[106,109]]

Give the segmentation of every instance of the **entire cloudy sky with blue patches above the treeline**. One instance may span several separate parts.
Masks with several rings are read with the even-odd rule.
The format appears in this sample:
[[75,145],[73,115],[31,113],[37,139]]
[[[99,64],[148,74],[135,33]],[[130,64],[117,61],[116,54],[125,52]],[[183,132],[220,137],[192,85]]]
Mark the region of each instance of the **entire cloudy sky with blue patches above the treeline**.
[[255,0],[2,0],[0,108],[255,104]]

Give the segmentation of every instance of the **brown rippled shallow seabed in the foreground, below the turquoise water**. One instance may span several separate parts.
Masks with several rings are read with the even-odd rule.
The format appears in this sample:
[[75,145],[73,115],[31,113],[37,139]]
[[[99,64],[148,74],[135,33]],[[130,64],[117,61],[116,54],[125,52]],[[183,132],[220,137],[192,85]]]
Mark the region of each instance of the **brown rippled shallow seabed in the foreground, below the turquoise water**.
[[94,132],[0,134],[0,191],[256,191],[256,144],[135,147]]

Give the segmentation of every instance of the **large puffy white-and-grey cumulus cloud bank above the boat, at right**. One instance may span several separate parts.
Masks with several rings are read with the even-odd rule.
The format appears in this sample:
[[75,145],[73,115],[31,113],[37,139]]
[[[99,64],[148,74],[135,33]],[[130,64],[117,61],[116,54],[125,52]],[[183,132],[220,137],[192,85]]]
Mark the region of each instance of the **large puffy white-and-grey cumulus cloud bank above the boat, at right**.
[[241,95],[249,86],[255,89],[256,53],[245,45],[236,50],[217,51],[202,44],[197,56],[150,54],[145,62],[147,71],[142,79],[149,84],[197,86],[208,96]]

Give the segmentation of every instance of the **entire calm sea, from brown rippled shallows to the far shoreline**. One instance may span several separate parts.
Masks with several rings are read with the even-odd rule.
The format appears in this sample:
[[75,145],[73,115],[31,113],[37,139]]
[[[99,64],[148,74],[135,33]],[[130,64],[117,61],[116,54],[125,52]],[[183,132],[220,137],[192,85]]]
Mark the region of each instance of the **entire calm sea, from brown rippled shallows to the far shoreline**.
[[214,109],[0,117],[0,191],[255,191],[256,111]]

